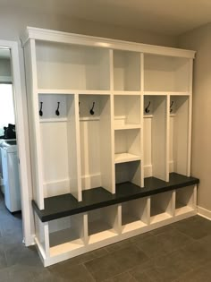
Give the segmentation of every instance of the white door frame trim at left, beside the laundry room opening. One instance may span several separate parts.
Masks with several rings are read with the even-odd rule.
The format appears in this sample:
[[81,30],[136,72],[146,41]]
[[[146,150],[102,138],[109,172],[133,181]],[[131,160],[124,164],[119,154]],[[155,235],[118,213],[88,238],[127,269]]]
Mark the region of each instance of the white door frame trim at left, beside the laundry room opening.
[[[20,160],[20,184],[21,184],[21,212],[22,212],[22,232],[23,243],[26,246],[33,244],[33,236],[31,235],[31,203],[30,203],[30,187],[31,179],[29,175],[30,157],[27,154],[27,140],[29,138],[28,128],[26,128],[26,120],[24,116],[23,98],[25,91],[21,87],[21,68],[19,60],[18,43],[15,41],[0,40],[0,47],[6,47],[11,50],[12,76],[13,76],[13,104],[15,113],[15,127],[18,142],[18,155]],[[26,109],[25,109],[26,111]]]

